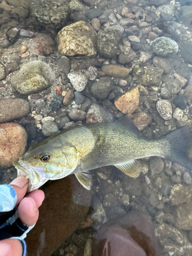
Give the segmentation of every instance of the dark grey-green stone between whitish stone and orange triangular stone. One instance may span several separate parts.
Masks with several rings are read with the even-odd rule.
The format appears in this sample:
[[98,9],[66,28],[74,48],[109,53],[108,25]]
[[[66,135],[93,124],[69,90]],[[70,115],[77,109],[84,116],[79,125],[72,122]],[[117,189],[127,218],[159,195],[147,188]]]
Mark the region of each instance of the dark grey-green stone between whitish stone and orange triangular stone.
[[97,99],[106,99],[112,90],[113,80],[108,77],[101,77],[98,81],[94,82],[91,87],[91,93]]

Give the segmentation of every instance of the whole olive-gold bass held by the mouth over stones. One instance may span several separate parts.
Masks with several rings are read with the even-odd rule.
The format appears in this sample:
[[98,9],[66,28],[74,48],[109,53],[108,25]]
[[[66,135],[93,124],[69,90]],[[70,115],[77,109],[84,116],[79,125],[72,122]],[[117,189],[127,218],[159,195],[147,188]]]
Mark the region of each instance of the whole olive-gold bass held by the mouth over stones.
[[76,124],[33,145],[13,165],[18,177],[29,179],[28,191],[71,174],[91,189],[90,170],[114,165],[136,178],[141,172],[138,159],[144,157],[162,157],[192,170],[191,134],[186,125],[158,139],[147,139],[128,118],[108,124]]

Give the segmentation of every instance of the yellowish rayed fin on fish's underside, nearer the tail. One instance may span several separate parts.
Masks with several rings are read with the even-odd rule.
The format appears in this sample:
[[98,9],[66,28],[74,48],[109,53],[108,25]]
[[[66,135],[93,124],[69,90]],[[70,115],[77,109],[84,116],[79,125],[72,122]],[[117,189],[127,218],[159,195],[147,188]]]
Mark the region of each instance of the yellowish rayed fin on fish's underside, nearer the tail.
[[139,174],[141,172],[139,168],[140,164],[135,160],[131,160],[126,163],[114,164],[114,166],[121,170],[121,172],[123,172],[124,174],[133,178],[139,177]]

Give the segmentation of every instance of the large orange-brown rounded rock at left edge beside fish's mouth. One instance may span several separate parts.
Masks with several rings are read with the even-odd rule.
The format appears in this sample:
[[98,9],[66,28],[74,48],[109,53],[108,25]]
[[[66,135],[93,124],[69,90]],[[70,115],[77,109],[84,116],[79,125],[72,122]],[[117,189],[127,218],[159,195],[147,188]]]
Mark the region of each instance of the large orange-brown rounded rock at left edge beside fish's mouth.
[[27,132],[18,123],[0,124],[0,166],[8,167],[26,150]]

